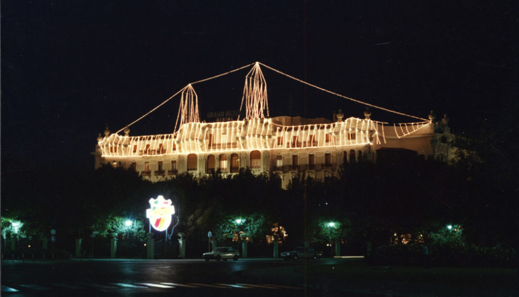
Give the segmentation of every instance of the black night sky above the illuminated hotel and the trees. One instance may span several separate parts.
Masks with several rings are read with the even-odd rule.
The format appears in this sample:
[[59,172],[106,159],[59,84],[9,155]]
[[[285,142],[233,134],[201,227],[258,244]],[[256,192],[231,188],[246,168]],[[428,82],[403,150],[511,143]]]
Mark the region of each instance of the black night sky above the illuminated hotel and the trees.
[[[92,168],[105,125],[255,61],[389,109],[447,113],[458,132],[502,125],[517,107],[517,1],[206,2],[2,1],[2,170]],[[194,85],[202,118],[239,109],[247,71]],[[263,73],[272,116],[304,115],[305,92],[309,117],[362,116],[360,104]],[[172,132],[178,103],[131,134]]]

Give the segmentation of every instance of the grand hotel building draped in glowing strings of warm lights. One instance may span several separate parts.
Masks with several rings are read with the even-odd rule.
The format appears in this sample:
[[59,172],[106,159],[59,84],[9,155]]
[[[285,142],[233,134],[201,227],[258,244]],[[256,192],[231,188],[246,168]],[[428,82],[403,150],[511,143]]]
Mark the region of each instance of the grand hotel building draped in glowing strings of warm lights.
[[181,100],[173,133],[130,136],[128,127],[121,129],[124,135],[118,133],[121,130],[112,134],[107,130],[98,138],[95,167],[108,163],[133,168],[151,181],[184,172],[203,176],[220,170],[226,175],[249,168],[254,174],[279,174],[285,188],[297,174],[319,180],[337,174],[345,161],[377,161],[395,152],[445,161],[450,158],[453,136],[446,118],[435,124],[430,115],[421,122],[388,125],[371,119],[367,111],[363,118],[344,118],[340,110],[333,120],[270,118],[259,63],[245,79],[244,119],[202,123],[193,84],[177,92]]

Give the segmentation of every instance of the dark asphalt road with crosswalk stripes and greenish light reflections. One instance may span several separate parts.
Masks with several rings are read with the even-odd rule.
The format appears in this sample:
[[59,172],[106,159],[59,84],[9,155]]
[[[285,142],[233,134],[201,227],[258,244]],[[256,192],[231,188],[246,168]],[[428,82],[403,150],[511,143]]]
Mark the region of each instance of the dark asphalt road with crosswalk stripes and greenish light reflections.
[[[5,296],[331,296],[340,284],[301,273],[347,259],[3,261]],[[351,260],[350,260],[351,261]],[[323,285],[324,283],[324,285]],[[371,296],[348,292],[348,296]]]

